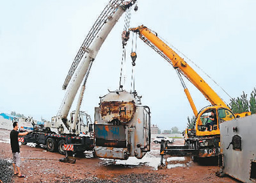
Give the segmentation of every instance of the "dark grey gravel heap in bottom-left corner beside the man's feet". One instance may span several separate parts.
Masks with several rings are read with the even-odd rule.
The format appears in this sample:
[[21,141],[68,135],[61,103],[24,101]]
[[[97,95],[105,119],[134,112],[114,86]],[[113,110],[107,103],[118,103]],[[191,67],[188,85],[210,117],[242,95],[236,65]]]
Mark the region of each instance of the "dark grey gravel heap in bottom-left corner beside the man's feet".
[[5,159],[0,159],[0,180],[3,182],[12,182],[12,178],[12,163],[8,162]]

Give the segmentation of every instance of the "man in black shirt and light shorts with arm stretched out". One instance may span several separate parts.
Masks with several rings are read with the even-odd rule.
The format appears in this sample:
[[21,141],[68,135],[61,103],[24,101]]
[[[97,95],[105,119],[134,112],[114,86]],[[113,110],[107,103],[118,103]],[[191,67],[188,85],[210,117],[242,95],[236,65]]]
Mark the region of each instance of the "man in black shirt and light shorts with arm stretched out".
[[[25,177],[20,173],[20,147],[19,147],[19,141],[18,136],[26,136],[29,132],[18,132],[19,126],[18,122],[13,123],[13,130],[10,133],[10,139],[11,139],[11,147],[12,147],[12,155],[13,155],[13,170],[14,175],[18,175],[18,177]],[[16,170],[17,169],[17,170]]]

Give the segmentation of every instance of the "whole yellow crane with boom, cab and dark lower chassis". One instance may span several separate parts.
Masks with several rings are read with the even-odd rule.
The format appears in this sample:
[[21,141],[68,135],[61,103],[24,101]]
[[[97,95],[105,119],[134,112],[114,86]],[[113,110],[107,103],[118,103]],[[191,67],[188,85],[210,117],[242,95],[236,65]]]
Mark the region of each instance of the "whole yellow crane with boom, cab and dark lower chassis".
[[[191,68],[183,58],[179,56],[172,48],[161,40],[154,31],[146,26],[131,28],[129,31],[138,33],[141,40],[152,47],[165,60],[172,64],[184,87],[184,92],[188,97],[189,104],[196,116],[195,129],[186,139],[185,147],[175,148],[168,151],[167,147],[163,152],[169,152],[171,155],[195,155],[197,157],[216,156],[220,153],[220,123],[235,118],[235,115],[229,109],[227,104],[218,96],[214,90],[200,77],[193,68]],[[200,92],[205,96],[212,106],[204,107],[197,112],[193,99],[182,80],[181,75],[186,77]],[[250,115],[250,113],[246,113]],[[243,113],[242,115],[246,115]]]

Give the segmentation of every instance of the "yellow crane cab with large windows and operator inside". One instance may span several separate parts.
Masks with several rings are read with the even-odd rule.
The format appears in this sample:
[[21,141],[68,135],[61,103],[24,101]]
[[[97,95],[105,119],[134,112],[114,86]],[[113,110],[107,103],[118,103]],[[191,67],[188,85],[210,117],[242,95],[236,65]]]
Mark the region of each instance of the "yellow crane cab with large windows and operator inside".
[[[214,120],[211,118],[212,113]],[[223,106],[206,107],[196,117],[196,136],[218,135],[220,134],[220,123],[234,118],[234,114]]]

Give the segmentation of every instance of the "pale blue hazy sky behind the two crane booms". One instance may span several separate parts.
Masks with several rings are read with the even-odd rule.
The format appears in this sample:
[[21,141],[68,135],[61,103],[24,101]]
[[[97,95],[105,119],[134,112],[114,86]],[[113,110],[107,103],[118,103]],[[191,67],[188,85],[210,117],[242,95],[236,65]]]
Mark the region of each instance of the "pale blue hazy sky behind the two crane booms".
[[[49,121],[57,115],[68,70],[106,4],[108,0],[0,1],[0,112]],[[130,27],[143,24],[156,31],[228,104],[228,95],[250,95],[256,87],[255,8],[256,1],[249,0],[138,0]],[[102,45],[86,84],[81,109],[92,119],[99,97],[119,86],[124,17]],[[135,90],[150,107],[152,124],[184,130],[193,111],[175,70],[139,38],[136,44]],[[124,89],[131,91],[131,39],[126,52]],[[185,82],[198,111],[210,104]]]

